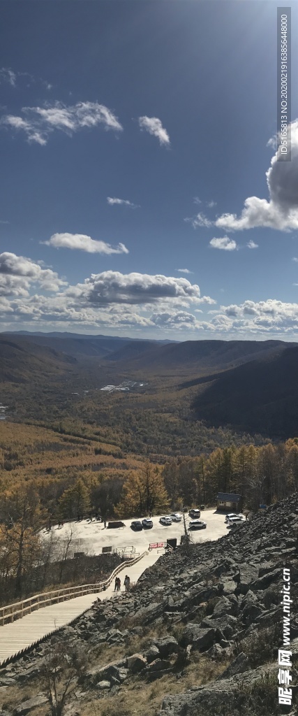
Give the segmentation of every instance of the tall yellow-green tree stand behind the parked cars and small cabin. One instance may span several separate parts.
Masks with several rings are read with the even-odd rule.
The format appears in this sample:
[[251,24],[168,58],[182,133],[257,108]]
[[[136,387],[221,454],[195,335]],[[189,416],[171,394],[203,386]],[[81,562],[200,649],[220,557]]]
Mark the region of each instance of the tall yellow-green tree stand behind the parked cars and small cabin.
[[247,507],[270,505],[298,489],[298,439],[256,447],[217,448],[198,458],[172,458],[162,468],[173,506],[214,505],[217,492],[239,493]]

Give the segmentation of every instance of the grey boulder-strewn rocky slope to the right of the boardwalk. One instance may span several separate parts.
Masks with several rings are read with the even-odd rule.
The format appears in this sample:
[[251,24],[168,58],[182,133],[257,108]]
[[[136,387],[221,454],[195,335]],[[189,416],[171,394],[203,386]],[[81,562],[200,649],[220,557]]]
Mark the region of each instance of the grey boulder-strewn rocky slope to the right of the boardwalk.
[[[71,627],[52,637],[53,643],[61,637],[64,641],[74,638],[76,644],[87,647],[91,657],[66,713],[89,714],[92,696],[96,713],[114,715],[112,704],[119,695],[125,705],[131,688],[143,684],[145,690],[146,684],[158,679],[163,679],[164,699],[155,710],[148,710],[150,714],[282,713],[277,697],[277,649],[282,646],[284,567],[291,574],[291,713],[296,714],[298,493],[217,542],[177,548],[162,556],[129,594],[98,601]],[[18,703],[9,705],[9,691],[38,678],[48,652],[49,640],[0,670],[0,687],[6,687],[9,708],[3,716],[35,714],[36,706],[24,706],[20,697]],[[185,690],[190,673],[194,683]],[[173,678],[175,693],[170,695]],[[44,693],[39,699],[39,714],[43,714]],[[107,700],[111,710],[105,710]],[[126,712],[129,709],[123,706],[119,716]],[[142,713],[141,705],[137,710],[136,704],[134,713]]]

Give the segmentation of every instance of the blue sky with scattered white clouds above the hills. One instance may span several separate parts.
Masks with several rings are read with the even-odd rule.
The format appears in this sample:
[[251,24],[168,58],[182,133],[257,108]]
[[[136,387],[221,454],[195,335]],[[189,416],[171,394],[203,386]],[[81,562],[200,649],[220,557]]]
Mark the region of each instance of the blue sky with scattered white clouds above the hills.
[[297,339],[282,4],[2,1],[0,330]]

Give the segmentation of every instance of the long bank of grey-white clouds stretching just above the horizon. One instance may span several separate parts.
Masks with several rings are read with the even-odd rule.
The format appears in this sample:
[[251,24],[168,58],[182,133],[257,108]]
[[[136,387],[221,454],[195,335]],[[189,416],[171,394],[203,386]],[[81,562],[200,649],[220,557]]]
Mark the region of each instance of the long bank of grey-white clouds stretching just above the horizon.
[[[31,294],[32,289],[36,293],[30,295],[29,289]],[[52,295],[40,291],[51,291]],[[247,299],[242,304],[209,310],[207,320],[198,315],[202,304],[216,301],[200,296],[199,286],[184,278],[105,271],[91,275],[82,284],[68,286],[54,271],[44,268],[42,261],[9,252],[0,254],[0,314],[6,327],[19,321],[22,327],[31,322],[56,329],[80,326],[84,330],[88,326],[121,332],[121,328],[129,327],[136,331],[160,329],[169,334],[195,330],[213,337],[246,339],[298,336],[298,303]],[[190,306],[194,306],[192,312]]]

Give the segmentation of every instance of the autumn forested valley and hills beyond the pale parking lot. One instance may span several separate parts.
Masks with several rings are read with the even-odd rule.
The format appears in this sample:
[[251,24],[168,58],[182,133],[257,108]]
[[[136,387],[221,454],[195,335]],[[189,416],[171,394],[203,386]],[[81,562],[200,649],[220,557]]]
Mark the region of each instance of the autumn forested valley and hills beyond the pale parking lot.
[[[75,579],[67,552],[58,555],[51,545],[54,551],[44,553],[40,531],[50,524],[75,523],[79,515],[130,518],[213,507],[218,491],[242,494],[244,508],[257,511],[260,502],[270,505],[297,490],[298,437],[289,427],[296,419],[290,410],[282,439],[266,435],[265,419],[258,432],[254,420],[250,432],[227,420],[235,405],[245,418],[247,400],[254,410],[258,385],[264,418],[277,410],[286,384],[285,395],[294,400],[297,347],[251,343],[2,337],[4,603],[27,596],[34,584],[44,589],[49,579]],[[107,384],[128,390],[102,391]],[[204,410],[206,420],[198,419],[196,411]],[[56,574],[49,569],[53,556],[61,563]],[[41,578],[36,569],[42,564]]]

